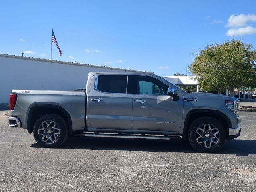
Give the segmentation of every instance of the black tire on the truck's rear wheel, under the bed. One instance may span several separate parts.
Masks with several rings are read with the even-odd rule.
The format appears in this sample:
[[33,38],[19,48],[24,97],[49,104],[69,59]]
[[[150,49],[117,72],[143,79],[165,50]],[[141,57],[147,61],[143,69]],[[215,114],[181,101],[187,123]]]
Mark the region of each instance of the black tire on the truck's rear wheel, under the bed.
[[[50,124],[52,122],[52,124]],[[50,125],[47,126],[47,123],[49,123]],[[52,127],[54,125],[54,123],[56,123],[56,126],[54,126],[56,128],[55,131],[57,131],[55,138],[56,140],[54,142],[51,141],[42,141],[42,134],[52,134],[53,137],[51,137],[51,139],[54,139],[54,127]],[[47,128],[49,128],[49,132],[51,129],[51,133],[48,133],[48,129],[46,132],[44,132],[44,130],[42,130],[42,124],[45,124],[45,126],[47,126]],[[58,129],[57,129],[58,128]],[[40,129],[40,130],[38,130]],[[40,134],[39,134],[40,132]],[[58,134],[59,132],[59,134]],[[38,118],[38,120],[36,120],[35,124],[34,124],[34,128],[33,128],[33,135],[34,135],[34,139],[36,140],[36,142],[38,144],[40,144],[40,146],[45,147],[45,148],[56,148],[61,146],[68,138],[68,125],[66,123],[66,121],[59,115],[57,114],[46,114],[41,116],[40,118]],[[47,135],[48,136],[48,135]],[[44,140],[47,140],[47,136],[45,136]],[[49,136],[48,136],[49,137]],[[50,142],[50,143],[49,143]]]

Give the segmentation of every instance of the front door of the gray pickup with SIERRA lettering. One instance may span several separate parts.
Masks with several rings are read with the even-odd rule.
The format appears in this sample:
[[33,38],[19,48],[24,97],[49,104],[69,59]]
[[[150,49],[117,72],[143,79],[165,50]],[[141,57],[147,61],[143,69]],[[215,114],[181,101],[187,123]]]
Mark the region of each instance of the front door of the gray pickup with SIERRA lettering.
[[145,75],[132,76],[132,130],[178,132],[183,116],[183,96],[173,101],[164,82]]

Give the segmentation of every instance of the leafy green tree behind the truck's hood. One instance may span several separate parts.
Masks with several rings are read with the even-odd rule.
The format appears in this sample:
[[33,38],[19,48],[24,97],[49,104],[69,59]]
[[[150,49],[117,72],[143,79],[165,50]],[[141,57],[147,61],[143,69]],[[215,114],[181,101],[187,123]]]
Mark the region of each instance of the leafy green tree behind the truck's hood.
[[240,40],[212,44],[200,50],[188,67],[203,90],[256,86],[256,50]]

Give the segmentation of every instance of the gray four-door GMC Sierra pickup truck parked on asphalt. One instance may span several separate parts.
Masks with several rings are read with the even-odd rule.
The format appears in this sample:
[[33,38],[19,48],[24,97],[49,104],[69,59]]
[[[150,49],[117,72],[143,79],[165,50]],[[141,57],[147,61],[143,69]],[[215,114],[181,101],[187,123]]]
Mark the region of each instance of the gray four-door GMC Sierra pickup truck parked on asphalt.
[[188,140],[215,152],[240,135],[239,100],[187,93],[154,74],[89,73],[85,92],[12,90],[9,126],[46,148],[68,136]]

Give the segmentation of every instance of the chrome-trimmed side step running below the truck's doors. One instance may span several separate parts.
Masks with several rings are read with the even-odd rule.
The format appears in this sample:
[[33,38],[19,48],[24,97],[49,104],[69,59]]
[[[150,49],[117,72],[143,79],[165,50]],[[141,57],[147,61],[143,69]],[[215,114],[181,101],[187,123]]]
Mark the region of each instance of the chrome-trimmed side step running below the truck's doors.
[[85,137],[113,137],[113,138],[136,138],[136,139],[163,139],[170,140],[171,137],[181,138],[179,135],[150,135],[150,134],[128,134],[128,133],[97,133],[97,132],[84,132],[75,133],[76,136]]

